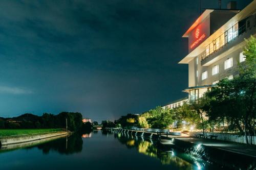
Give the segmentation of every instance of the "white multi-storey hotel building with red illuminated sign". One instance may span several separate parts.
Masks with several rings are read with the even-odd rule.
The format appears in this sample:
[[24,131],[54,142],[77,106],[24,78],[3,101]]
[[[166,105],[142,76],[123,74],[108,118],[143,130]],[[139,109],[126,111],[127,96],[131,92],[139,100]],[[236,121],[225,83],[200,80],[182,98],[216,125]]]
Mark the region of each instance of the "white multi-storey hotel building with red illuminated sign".
[[238,63],[245,60],[245,39],[256,36],[255,26],[256,0],[243,10],[236,9],[236,2],[228,9],[206,9],[182,36],[188,38],[188,55],[179,62],[188,64],[188,98],[163,108],[198,100],[219,80],[236,76]]

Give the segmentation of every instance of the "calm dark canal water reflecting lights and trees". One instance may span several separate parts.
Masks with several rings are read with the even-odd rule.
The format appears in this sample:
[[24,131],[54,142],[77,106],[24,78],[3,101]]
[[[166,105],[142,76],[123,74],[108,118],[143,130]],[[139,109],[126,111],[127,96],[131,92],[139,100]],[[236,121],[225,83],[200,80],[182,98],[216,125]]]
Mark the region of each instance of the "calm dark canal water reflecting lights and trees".
[[178,150],[161,151],[151,138],[94,131],[19,149],[0,149],[0,169],[228,169]]

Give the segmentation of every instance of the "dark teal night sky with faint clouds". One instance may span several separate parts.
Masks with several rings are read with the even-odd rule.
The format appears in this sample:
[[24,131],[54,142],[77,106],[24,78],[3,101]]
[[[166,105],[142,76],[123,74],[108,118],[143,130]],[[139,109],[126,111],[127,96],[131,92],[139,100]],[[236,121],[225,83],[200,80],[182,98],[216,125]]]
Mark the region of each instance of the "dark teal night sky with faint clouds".
[[0,116],[71,111],[100,122],[187,96],[181,36],[199,14],[199,0],[0,1]]

